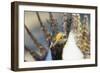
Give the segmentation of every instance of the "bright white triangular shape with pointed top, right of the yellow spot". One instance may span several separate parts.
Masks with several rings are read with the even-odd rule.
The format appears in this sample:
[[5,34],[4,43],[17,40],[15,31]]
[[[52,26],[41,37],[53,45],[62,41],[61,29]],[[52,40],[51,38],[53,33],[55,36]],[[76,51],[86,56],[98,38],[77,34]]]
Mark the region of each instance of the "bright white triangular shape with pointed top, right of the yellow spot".
[[68,41],[63,48],[62,58],[63,60],[83,59],[83,54],[76,45],[74,33],[72,31],[69,33]]

